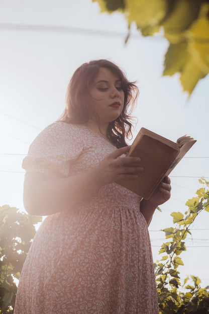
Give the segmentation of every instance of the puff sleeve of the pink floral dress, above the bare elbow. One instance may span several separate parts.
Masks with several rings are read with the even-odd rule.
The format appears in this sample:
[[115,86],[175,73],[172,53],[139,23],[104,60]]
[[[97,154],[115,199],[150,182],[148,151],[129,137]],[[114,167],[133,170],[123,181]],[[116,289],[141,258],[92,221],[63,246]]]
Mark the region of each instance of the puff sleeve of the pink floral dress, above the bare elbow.
[[84,144],[76,125],[55,122],[32,142],[23,160],[23,169],[41,172],[52,178],[68,177],[70,166],[82,153]]

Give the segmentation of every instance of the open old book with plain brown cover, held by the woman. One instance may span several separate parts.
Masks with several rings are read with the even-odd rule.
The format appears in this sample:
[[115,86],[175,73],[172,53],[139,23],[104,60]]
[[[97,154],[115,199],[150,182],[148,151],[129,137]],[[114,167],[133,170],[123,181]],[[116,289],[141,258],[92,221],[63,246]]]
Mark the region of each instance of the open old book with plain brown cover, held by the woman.
[[[144,171],[137,179],[117,181],[118,184],[149,199],[158,184],[168,176],[186,152],[196,142],[190,136],[182,136],[176,143],[145,128],[141,128],[127,156],[141,158]],[[136,165],[137,166],[137,165]]]

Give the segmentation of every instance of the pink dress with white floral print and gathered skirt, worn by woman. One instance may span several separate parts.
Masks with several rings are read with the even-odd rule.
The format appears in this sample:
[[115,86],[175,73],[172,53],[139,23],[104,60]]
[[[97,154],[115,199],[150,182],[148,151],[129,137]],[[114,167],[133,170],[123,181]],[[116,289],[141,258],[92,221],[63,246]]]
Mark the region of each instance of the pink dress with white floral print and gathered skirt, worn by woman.
[[[27,172],[65,178],[97,167],[109,141],[56,122],[33,141]],[[140,198],[107,184],[41,224],[26,258],[15,314],[157,314],[149,233]]]

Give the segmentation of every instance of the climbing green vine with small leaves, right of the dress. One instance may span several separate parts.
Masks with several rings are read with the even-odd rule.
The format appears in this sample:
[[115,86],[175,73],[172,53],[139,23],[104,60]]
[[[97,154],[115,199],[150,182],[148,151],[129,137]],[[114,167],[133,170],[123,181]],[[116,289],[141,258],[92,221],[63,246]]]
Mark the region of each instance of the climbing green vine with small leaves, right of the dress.
[[[167,255],[163,256],[159,263],[154,264],[160,313],[194,312],[195,308],[199,310],[199,307],[202,306],[200,304],[204,304],[205,301],[207,301],[209,305],[209,296],[206,291],[208,287],[204,289],[200,288],[198,286],[200,283],[198,277],[191,276],[194,287],[186,286],[186,289],[190,289],[190,292],[186,292],[184,295],[177,290],[179,286],[181,286],[177,268],[179,265],[184,265],[179,255],[183,251],[186,251],[184,240],[188,233],[191,234],[190,227],[197,215],[199,215],[202,210],[209,212],[209,190],[206,190],[209,183],[205,179],[200,179],[199,182],[204,184],[205,187],[197,190],[197,196],[186,202],[188,210],[184,214],[181,212],[173,212],[171,216],[173,217],[174,227],[162,230],[165,232],[165,238],[171,238],[171,241],[162,244],[159,254],[166,253]],[[188,277],[184,280],[184,284],[187,280]],[[203,301],[199,303],[200,298],[203,298]],[[195,303],[197,299],[198,306]],[[182,302],[186,303],[184,304]],[[185,311],[183,311],[183,307]],[[204,311],[201,311],[201,313],[204,313]],[[205,313],[207,313],[207,311]]]

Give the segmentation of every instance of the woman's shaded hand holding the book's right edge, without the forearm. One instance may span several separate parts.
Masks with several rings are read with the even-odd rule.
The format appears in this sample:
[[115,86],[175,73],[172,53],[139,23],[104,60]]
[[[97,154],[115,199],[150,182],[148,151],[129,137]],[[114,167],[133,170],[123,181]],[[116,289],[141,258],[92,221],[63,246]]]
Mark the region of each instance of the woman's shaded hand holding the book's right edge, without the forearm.
[[153,194],[150,196],[148,200],[149,203],[155,208],[165,203],[170,198],[170,191],[171,191],[170,178],[165,177],[163,181],[154,190]]

